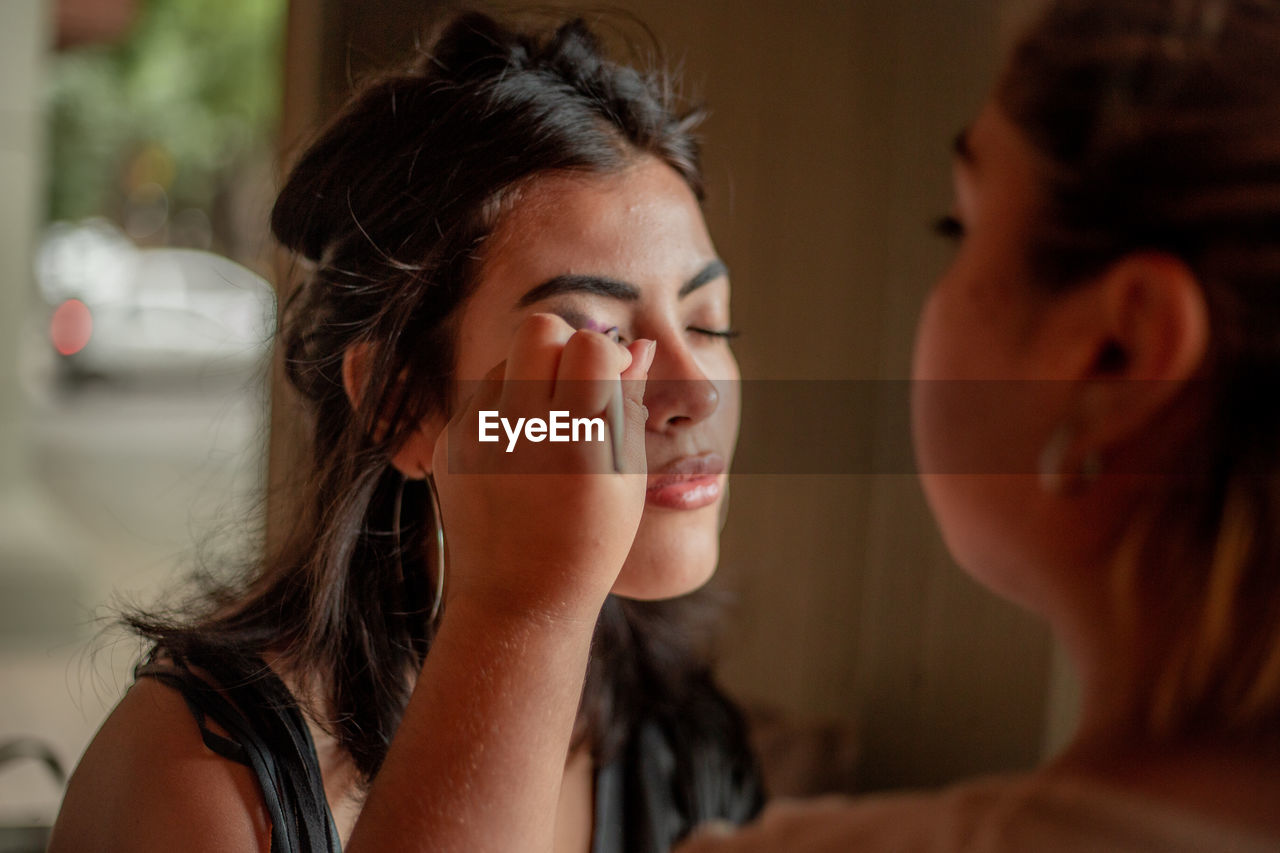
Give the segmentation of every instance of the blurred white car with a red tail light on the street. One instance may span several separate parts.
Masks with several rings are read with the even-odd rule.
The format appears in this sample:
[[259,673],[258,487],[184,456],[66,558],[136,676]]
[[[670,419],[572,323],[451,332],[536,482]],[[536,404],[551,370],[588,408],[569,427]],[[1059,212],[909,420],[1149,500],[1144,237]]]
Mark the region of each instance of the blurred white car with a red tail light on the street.
[[52,225],[36,280],[70,378],[244,374],[270,352],[275,293],[265,279],[210,252],[137,248],[106,220]]

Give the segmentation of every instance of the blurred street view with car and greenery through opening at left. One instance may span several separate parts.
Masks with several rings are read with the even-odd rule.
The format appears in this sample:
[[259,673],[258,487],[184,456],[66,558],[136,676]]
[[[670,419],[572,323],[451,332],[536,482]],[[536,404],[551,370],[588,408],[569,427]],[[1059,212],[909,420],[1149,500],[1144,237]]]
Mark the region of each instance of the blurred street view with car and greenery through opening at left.
[[[73,766],[137,653],[95,617],[253,544],[285,0],[56,6],[20,346],[22,517],[49,553],[0,575],[0,740]],[[41,770],[0,776],[4,849],[52,817]]]

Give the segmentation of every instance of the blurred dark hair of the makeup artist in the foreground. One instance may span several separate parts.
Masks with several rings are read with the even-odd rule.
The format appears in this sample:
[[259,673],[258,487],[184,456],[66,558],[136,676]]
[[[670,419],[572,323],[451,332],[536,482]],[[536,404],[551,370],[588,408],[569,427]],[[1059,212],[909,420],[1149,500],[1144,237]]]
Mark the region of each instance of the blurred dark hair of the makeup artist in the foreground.
[[1134,722],[1280,735],[1280,3],[1056,0],[996,99],[1043,160],[1039,287],[1153,250],[1208,305],[1187,475],[1144,507],[1117,589],[1153,649]]

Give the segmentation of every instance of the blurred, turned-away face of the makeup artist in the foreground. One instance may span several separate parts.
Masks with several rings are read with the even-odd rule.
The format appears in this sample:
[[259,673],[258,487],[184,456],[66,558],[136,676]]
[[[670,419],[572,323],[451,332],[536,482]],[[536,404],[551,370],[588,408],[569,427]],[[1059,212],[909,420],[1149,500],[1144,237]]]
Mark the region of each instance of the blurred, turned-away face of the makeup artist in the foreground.
[[1036,473],[1071,383],[1057,382],[1068,359],[1055,348],[1069,337],[1057,327],[1070,314],[1036,295],[1027,264],[1034,156],[993,105],[956,142],[956,250],[916,330],[913,433],[952,556],[1041,610],[1041,579],[1025,566],[1043,562],[1053,519]]

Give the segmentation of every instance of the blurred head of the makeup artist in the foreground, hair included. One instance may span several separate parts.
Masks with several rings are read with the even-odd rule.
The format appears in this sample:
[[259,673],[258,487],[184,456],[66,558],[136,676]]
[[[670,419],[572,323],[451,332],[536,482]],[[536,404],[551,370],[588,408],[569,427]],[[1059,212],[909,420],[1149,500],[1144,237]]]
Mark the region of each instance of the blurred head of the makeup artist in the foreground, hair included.
[[1280,721],[1277,128],[1280,4],[1060,0],[957,140],[925,489],[1153,735]]

